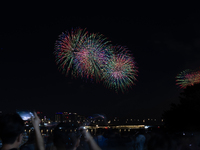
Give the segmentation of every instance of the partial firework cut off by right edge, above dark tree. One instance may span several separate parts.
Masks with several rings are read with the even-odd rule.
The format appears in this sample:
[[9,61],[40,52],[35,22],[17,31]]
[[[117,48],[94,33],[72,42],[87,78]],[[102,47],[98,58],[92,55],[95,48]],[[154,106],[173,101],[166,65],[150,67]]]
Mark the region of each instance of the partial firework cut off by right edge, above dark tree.
[[176,85],[185,89],[187,86],[193,86],[200,83],[200,71],[185,70],[176,76]]

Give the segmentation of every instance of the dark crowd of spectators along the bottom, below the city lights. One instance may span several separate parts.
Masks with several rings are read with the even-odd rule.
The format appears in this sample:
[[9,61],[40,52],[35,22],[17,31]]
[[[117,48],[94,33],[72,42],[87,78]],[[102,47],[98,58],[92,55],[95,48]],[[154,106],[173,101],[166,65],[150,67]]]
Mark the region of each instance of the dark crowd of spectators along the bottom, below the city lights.
[[[31,118],[34,130],[23,141],[24,122],[17,113],[1,115],[1,150],[198,150],[199,132],[137,129],[121,134],[114,129],[97,130],[95,135],[74,123],[59,123],[48,137],[42,137],[37,114]],[[22,144],[23,143],[23,144]]]

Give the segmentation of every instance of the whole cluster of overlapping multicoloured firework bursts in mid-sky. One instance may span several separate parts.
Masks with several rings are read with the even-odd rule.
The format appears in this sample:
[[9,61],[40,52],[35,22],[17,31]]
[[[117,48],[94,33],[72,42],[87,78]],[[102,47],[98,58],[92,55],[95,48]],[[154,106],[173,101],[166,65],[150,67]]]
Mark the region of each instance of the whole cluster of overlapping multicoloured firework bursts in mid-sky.
[[116,92],[134,85],[138,73],[134,58],[122,46],[112,46],[102,34],[85,29],[66,31],[55,43],[56,63],[66,75],[96,81]]

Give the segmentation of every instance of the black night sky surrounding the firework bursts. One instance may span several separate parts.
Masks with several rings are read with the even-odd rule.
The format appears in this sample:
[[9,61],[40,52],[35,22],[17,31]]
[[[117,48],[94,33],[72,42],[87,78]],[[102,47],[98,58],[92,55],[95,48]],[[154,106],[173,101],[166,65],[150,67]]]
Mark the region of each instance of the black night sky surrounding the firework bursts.
[[[160,117],[181,90],[175,77],[200,66],[197,11],[134,9],[87,11],[57,4],[6,7],[0,29],[0,110],[35,109],[47,114]],[[58,35],[72,27],[105,35],[128,47],[138,66],[138,81],[125,94],[101,84],[65,77],[53,55]]]

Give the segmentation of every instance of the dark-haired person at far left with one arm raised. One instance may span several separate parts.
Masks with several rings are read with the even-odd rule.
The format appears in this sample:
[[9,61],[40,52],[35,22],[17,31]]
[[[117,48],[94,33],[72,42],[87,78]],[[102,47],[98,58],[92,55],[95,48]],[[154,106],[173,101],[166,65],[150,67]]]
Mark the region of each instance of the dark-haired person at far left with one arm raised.
[[[36,113],[31,118],[37,148],[44,150],[44,140],[40,133],[40,119]],[[2,140],[1,150],[17,150],[22,143],[24,133],[24,121],[17,113],[9,113],[0,117],[0,138]]]

